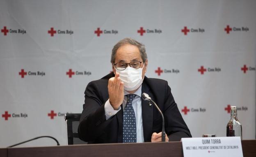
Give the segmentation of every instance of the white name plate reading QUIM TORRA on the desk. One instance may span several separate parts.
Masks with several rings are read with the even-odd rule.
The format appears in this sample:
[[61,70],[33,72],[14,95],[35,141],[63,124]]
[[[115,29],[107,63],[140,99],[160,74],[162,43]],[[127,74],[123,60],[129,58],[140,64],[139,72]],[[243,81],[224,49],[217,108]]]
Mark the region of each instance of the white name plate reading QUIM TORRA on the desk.
[[182,138],[184,157],[243,157],[240,137]]

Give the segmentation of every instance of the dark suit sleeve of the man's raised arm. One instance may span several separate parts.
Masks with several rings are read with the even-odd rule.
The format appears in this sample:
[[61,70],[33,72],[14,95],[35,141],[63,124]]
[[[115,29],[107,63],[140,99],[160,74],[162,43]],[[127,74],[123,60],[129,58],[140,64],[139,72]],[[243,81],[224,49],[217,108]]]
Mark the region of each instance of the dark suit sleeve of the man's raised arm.
[[79,138],[86,142],[97,139],[111,122],[112,117],[108,120],[105,118],[105,102],[102,97],[96,82],[90,82],[85,89],[85,104],[78,126]]

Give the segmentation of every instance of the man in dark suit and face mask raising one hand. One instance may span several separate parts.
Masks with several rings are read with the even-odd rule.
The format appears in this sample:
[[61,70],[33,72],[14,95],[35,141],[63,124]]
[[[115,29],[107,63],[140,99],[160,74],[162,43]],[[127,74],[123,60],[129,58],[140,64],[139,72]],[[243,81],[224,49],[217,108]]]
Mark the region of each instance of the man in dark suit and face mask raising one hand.
[[162,117],[142,99],[147,93],[165,117],[165,141],[191,137],[167,81],[145,76],[148,60],[143,44],[125,38],[112,49],[113,72],[89,82],[78,127],[88,143],[161,142]]

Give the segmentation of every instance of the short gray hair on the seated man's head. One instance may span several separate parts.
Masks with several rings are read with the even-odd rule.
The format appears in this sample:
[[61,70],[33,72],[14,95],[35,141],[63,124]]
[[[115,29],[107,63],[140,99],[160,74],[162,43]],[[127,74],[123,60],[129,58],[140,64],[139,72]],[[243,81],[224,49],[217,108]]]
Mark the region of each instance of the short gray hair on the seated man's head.
[[121,47],[121,46],[123,46],[125,44],[131,44],[131,45],[137,46],[139,48],[139,52],[140,52],[140,55],[142,57],[142,60],[145,63],[146,59],[148,58],[148,56],[146,55],[145,45],[140,43],[140,42],[137,42],[134,39],[124,38],[123,40],[120,40],[117,44],[115,44],[115,46],[112,49],[111,60],[110,60],[110,62],[112,64],[114,64],[114,61],[115,61],[115,58],[116,58],[117,49],[119,49],[119,47]]

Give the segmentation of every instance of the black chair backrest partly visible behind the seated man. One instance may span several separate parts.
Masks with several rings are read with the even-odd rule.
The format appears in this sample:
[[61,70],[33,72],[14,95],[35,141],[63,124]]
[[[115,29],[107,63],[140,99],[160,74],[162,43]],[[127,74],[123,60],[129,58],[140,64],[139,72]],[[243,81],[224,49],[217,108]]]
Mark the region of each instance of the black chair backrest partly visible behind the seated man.
[[66,135],[67,135],[67,144],[87,144],[87,142],[82,141],[78,137],[78,125],[80,120],[81,113],[66,113]]

